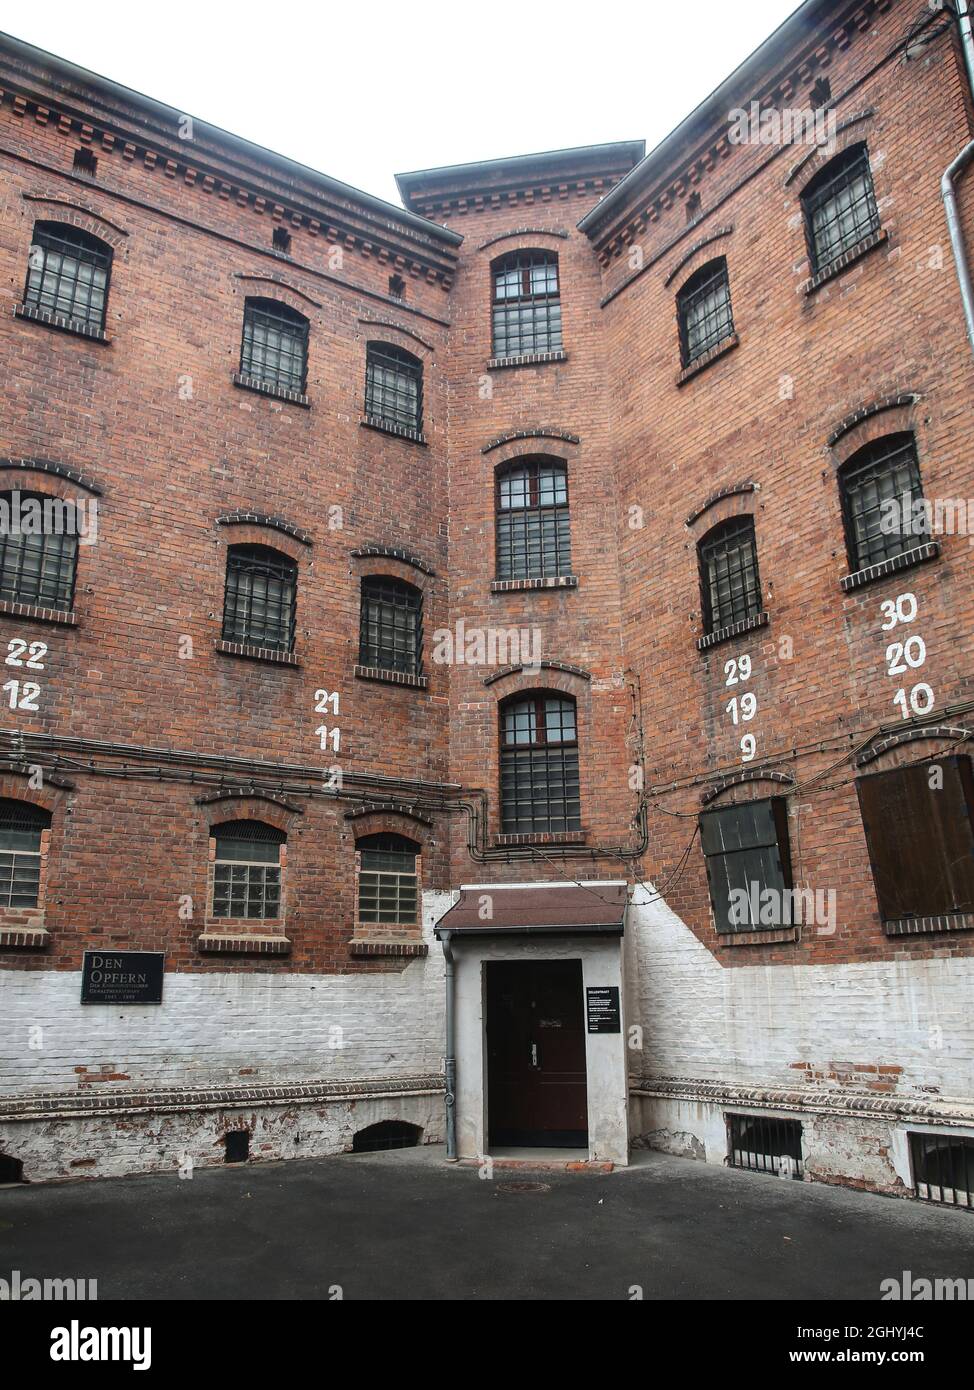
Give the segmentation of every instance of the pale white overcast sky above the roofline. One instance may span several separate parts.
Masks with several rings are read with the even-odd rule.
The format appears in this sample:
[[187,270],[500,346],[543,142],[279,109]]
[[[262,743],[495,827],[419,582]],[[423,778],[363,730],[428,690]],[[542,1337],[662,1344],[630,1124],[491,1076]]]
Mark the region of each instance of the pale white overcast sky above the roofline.
[[395,174],[645,139],[798,0],[199,0],[11,7],[7,32],[399,203]]

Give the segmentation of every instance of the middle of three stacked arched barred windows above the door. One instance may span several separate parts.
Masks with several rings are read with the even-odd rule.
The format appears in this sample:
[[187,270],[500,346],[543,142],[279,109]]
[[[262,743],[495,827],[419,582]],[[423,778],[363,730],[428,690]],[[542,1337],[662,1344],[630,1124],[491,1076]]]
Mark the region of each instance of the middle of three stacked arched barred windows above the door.
[[568,470],[552,459],[518,459],[497,473],[497,578],[571,574]]

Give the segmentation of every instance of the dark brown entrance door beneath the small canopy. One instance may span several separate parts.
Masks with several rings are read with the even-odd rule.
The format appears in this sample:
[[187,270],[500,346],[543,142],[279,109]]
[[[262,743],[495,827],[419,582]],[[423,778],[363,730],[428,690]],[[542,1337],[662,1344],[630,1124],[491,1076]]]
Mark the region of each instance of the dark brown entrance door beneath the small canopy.
[[581,960],[486,963],[488,1143],[588,1148]]

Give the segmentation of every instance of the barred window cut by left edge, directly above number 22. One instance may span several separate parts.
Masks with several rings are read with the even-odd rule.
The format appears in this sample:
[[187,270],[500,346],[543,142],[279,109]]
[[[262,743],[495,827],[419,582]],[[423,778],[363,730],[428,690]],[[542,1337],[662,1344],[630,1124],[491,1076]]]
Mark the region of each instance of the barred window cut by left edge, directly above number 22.
[[67,531],[71,506],[36,492],[0,492],[0,599],[71,612],[78,566],[76,528]]

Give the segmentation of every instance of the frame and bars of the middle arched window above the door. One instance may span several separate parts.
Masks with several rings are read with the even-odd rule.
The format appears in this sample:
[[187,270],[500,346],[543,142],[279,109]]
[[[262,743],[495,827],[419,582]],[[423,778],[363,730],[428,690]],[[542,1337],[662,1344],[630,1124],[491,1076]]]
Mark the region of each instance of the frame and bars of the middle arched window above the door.
[[[504,506],[504,484],[510,482],[518,473],[527,470],[528,506]],[[564,500],[552,503],[542,502],[542,473],[545,470],[560,480],[556,482],[556,495],[564,491]],[[568,491],[568,464],[563,459],[553,459],[547,455],[529,455],[518,459],[509,459],[500,464],[495,474],[495,577],[497,580],[549,580],[566,578],[571,575],[571,496]],[[539,563],[529,563],[531,525],[536,518],[538,555]],[[546,543],[545,523],[550,518],[549,543]],[[525,563],[517,564],[518,549],[514,531],[521,521],[522,531],[521,555]]]

